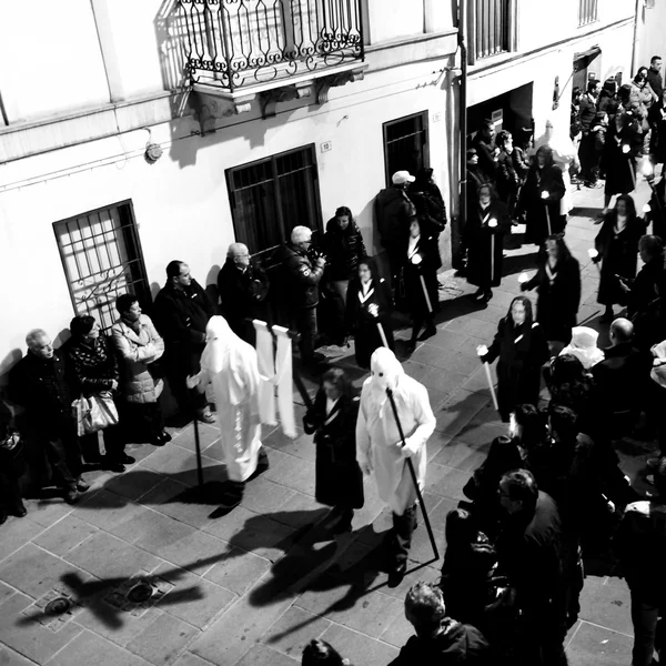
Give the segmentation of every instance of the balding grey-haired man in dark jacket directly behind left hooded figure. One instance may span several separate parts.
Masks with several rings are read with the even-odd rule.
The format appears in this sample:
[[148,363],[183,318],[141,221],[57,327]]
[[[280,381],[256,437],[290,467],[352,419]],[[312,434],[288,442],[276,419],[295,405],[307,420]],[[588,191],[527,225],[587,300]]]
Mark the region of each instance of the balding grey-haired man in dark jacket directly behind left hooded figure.
[[231,243],[226,261],[218,273],[221,310],[231,330],[253,346],[256,333],[250,320],[266,320],[265,297],[269,286],[265,271],[250,261],[248,245]]

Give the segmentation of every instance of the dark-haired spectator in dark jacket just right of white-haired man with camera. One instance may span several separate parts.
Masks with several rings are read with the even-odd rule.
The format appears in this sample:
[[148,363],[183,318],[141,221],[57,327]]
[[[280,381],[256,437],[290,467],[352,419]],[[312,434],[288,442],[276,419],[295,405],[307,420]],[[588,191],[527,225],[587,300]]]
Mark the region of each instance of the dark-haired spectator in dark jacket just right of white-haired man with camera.
[[324,253],[331,286],[343,303],[346,303],[350,280],[356,275],[359,262],[367,253],[352,211],[344,205],[335,211],[335,218],[329,220],[326,224]]

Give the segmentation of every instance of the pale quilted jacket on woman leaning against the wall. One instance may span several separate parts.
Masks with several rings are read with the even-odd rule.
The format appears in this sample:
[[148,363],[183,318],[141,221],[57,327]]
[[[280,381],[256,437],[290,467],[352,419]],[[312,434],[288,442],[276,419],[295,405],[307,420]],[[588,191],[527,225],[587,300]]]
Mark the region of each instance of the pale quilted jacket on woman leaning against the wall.
[[164,341],[150,317],[139,317],[139,332],[120,319],[111,327],[111,336],[121,362],[123,397],[131,403],[157,402],[164,384],[151,369],[164,353]]

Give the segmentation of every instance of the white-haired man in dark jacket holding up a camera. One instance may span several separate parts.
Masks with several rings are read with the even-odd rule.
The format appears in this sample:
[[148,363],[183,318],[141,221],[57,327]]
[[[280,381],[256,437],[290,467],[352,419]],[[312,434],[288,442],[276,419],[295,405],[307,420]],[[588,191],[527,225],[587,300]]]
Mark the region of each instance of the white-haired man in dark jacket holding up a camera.
[[319,284],[326,265],[323,256],[311,256],[311,245],[312,231],[307,226],[294,226],[291,242],[282,245],[275,253],[275,260],[282,264],[291,327],[301,334],[299,347],[304,366],[312,366],[316,361],[314,345],[317,335]]

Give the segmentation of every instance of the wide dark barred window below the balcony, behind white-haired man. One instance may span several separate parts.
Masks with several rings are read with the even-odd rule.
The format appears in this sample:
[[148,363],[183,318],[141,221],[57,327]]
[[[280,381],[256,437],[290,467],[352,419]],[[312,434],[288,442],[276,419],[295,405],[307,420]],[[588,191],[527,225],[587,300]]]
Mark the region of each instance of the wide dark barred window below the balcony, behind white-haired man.
[[233,228],[250,254],[289,240],[294,226],[322,226],[314,144],[226,171]]

